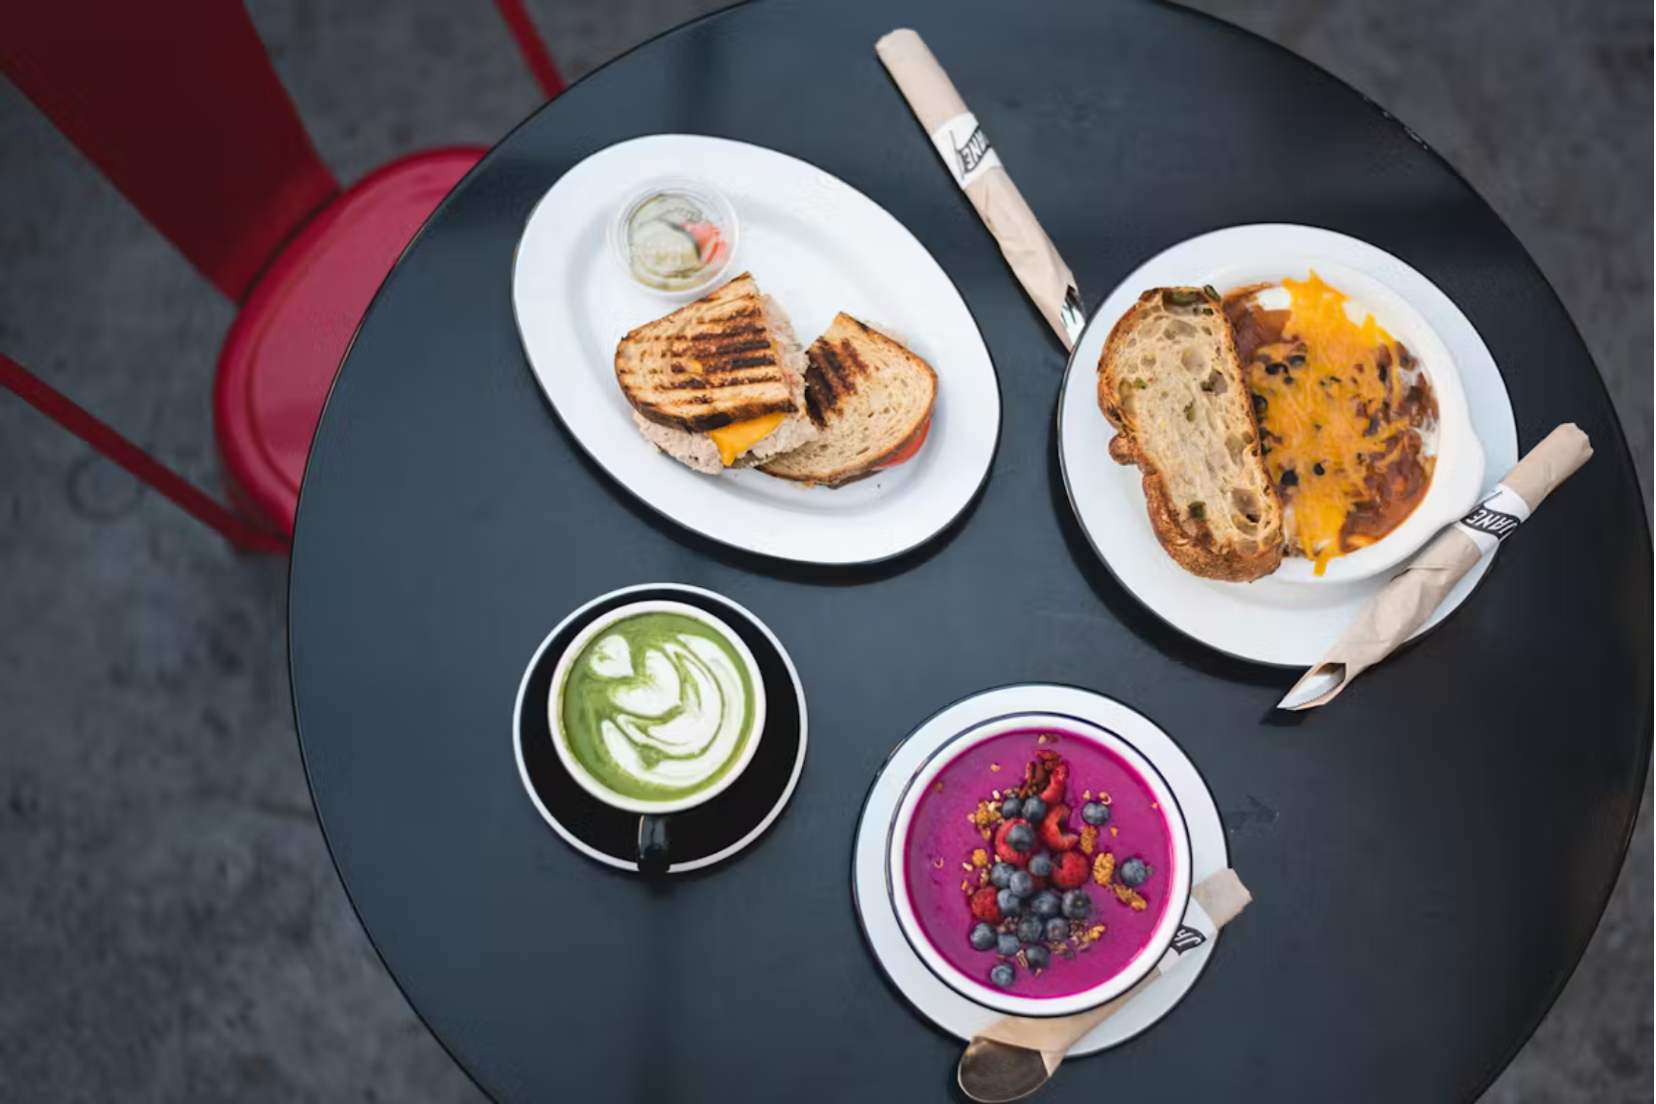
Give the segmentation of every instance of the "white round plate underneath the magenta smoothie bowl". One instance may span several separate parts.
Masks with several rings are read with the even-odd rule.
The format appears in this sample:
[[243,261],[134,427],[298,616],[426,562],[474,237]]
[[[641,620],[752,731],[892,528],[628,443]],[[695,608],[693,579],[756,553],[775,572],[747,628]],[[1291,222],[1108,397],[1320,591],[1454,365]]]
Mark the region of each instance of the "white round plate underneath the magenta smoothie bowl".
[[[1230,866],[1225,829],[1207,783],[1179,745],[1143,713],[1080,687],[1022,684],[985,690],[932,715],[891,751],[863,801],[851,849],[851,897],[879,968],[922,1016],[960,1039],[970,1039],[1002,1013],[969,1001],[944,985],[904,938],[886,890],[886,831],[904,786],[932,751],[964,728],[1010,713],[1075,717],[1124,738],[1154,763],[1184,811],[1191,833],[1191,884]],[[1126,1008],[1071,1046],[1070,1054],[1093,1054],[1126,1043],[1172,1011],[1207,968],[1219,938],[1214,938],[1191,952],[1189,962],[1181,962],[1176,972],[1158,978]]]

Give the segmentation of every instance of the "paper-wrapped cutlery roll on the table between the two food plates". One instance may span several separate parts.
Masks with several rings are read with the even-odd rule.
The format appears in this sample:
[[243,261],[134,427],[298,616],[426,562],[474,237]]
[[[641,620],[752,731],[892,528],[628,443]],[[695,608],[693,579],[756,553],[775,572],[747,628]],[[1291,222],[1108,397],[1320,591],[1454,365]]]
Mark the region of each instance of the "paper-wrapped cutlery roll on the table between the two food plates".
[[989,144],[984,129],[977,126],[977,118],[967,111],[949,74],[937,65],[937,58],[921,36],[911,30],[891,31],[874,43],[874,53],[891,71],[891,79],[898,83],[903,98],[926,127],[956,184],[995,235],[1018,283],[1058,333],[1065,348],[1075,348],[1075,338],[1085,323],[1081,301],[1075,293],[1075,276],[1007,175],[999,154]]

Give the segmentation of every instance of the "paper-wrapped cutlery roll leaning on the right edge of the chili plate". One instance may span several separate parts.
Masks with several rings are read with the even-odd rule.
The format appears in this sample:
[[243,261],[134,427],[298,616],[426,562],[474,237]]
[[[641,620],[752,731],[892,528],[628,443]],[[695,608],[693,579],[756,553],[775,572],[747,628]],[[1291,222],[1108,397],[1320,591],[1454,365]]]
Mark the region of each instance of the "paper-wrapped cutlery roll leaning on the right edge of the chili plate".
[[1547,434],[1500,485],[1466,518],[1456,521],[1416,556],[1403,574],[1376,594],[1356,622],[1307,670],[1283,702],[1312,680],[1338,677],[1338,685],[1307,702],[1283,708],[1313,708],[1340,697],[1363,670],[1391,655],[1426,624],[1479,559],[1517,531],[1519,525],[1593,455],[1593,445],[1573,422]]

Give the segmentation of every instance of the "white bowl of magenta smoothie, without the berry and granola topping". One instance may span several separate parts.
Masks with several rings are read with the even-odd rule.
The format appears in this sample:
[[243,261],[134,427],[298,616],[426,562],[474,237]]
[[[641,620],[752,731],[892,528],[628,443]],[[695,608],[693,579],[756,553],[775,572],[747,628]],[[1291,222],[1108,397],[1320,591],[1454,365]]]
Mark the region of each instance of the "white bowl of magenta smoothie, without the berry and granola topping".
[[[1083,791],[1113,794],[1113,818],[1095,847],[1151,864],[1141,890],[1148,907],[1134,910],[1088,879],[1093,914],[1083,927],[1096,922],[1105,934],[1080,953],[1053,955],[1040,972],[1018,970],[1002,988],[990,970],[1004,960],[967,943],[969,897],[980,877],[970,854],[984,847],[995,861],[969,814],[995,791],[1010,794],[1042,748],[1070,765],[1073,808]],[[1191,839],[1172,790],[1121,735],[1075,717],[1018,713],[967,728],[914,773],[886,838],[886,887],[904,938],[956,993],[1012,1016],[1068,1016],[1121,996],[1167,952],[1191,897]]]

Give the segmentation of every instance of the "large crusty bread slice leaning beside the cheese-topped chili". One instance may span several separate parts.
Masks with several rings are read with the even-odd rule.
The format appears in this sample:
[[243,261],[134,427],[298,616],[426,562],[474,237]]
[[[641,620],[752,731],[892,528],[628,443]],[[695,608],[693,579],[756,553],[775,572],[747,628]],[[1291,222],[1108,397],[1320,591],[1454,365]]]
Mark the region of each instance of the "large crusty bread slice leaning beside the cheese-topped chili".
[[1282,563],[1282,503],[1230,326],[1201,288],[1153,288],[1110,331],[1098,406],[1110,455],[1144,473],[1149,523],[1181,568],[1250,583]]

